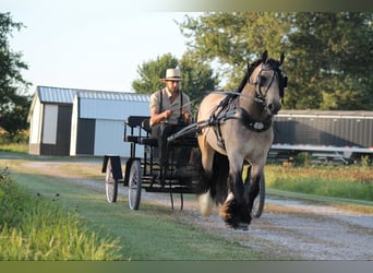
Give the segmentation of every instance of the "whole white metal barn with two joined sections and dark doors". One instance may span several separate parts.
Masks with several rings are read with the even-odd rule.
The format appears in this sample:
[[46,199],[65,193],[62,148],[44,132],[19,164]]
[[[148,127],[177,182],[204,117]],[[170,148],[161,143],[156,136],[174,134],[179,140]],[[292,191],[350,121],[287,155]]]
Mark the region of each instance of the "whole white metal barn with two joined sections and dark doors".
[[149,95],[37,86],[28,114],[29,154],[130,155],[123,121],[149,115]]

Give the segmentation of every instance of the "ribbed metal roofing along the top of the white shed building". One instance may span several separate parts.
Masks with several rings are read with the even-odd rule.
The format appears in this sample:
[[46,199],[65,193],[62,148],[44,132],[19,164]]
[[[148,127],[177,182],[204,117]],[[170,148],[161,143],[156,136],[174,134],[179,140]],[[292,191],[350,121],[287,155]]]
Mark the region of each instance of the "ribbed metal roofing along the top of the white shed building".
[[61,87],[51,87],[51,86],[37,86],[36,91],[40,99],[40,103],[50,103],[50,104],[73,104],[75,94],[80,98],[124,100],[124,102],[149,102],[149,98],[151,98],[149,94],[61,88]]

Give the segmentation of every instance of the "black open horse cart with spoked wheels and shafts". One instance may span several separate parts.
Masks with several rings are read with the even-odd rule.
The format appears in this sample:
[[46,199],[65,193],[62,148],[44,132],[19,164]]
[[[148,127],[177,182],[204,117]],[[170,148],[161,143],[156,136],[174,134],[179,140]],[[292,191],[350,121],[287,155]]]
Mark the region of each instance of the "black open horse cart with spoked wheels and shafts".
[[[170,194],[173,210],[173,194],[180,194],[180,210],[183,209],[183,194],[196,193],[198,186],[198,168],[201,166],[188,165],[186,173],[178,174],[176,168],[176,154],[182,146],[190,146],[194,154],[198,154],[196,132],[201,127],[212,126],[210,121],[192,123],[168,138],[168,164],[159,163],[158,140],[151,136],[148,116],[130,116],[124,121],[123,141],[130,143],[130,157],[125,162],[124,176],[121,157],[119,155],[105,155],[103,174],[105,177],[106,198],[109,203],[117,202],[118,185],[128,187],[128,202],[131,210],[139,210],[141,194],[146,192],[166,192]],[[143,146],[143,156],[136,156],[139,146]],[[193,154],[193,153],[192,153]],[[245,176],[250,175],[251,167],[244,165]],[[246,179],[244,179],[246,180]],[[254,201],[253,217],[258,218],[264,209],[265,179],[262,176],[260,194]]]

